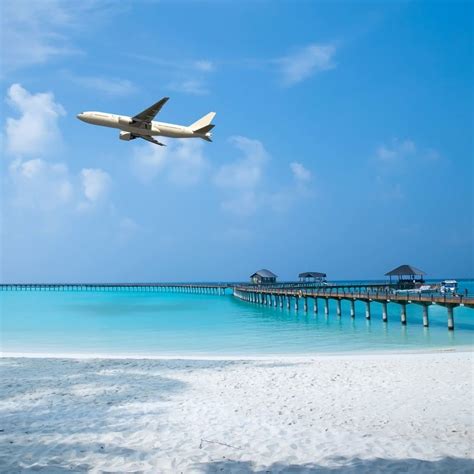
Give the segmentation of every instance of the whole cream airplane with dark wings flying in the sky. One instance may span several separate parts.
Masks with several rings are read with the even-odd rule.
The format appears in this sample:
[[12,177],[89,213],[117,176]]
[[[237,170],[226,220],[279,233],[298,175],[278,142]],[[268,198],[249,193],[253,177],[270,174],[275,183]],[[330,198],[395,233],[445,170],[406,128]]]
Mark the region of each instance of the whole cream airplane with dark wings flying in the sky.
[[164,143],[153,138],[155,136],[162,136],[170,138],[202,138],[212,142],[211,130],[214,128],[214,125],[211,122],[216,115],[215,112],[209,112],[189,126],[155,122],[153,119],[168,100],[169,97],[163,97],[156,104],[133,117],[104,112],[81,112],[77,114],[77,118],[93,125],[118,128],[120,130],[120,140],[125,141],[142,138],[156,145],[165,146]]

